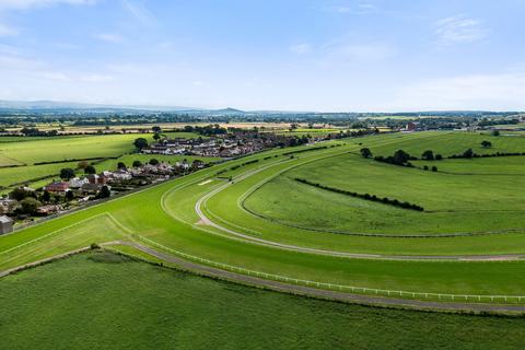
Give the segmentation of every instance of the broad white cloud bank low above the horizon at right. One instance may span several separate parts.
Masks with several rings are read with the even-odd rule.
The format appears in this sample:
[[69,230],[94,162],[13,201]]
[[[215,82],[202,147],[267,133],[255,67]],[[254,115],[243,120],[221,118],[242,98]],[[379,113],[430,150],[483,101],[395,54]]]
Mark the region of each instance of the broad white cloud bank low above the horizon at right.
[[394,103],[404,109],[525,109],[525,71],[422,81],[402,88]]

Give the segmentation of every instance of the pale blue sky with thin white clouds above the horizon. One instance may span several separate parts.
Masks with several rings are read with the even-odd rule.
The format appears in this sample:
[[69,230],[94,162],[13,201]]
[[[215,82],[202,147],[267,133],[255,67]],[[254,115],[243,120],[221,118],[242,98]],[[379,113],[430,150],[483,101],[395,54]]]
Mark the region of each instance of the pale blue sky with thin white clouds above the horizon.
[[0,0],[0,100],[525,110],[523,0]]

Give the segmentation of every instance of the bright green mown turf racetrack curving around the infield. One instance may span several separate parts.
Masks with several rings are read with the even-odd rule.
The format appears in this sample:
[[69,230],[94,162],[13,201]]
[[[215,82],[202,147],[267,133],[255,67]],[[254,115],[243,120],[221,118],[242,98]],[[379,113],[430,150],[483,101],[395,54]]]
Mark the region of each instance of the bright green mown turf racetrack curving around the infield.
[[[245,229],[238,230],[254,237],[336,252],[373,252],[394,255],[525,253],[523,249],[525,235],[520,232],[424,240],[358,237],[284,226],[253,217],[238,206],[238,200],[254,186],[271,179],[280,172],[301,171],[314,166],[316,163],[322,164],[322,162],[338,158],[347,158],[352,162],[360,162],[360,164],[372,162],[361,160],[359,156],[354,159],[353,154],[349,154],[349,152],[359,151],[359,148],[362,147],[360,143],[377,150],[387,147],[396,148],[398,142],[410,145],[411,143],[428,142],[429,139],[433,139],[434,144],[440,144],[442,136],[448,137],[448,133],[422,132],[400,137],[382,135],[348,139],[343,140],[345,145],[295,153],[293,159],[282,155],[290,151],[289,149],[277,149],[215,165],[141,192],[2,236],[0,237],[0,269],[79,248],[88,245],[90,241],[102,243],[116,238],[128,240],[132,235],[133,240],[139,240],[147,245],[154,244],[155,248],[176,256],[185,254],[186,257],[190,255],[195,258],[208,259],[213,264],[228,264],[287,278],[409,292],[525,295],[525,281],[520,278],[525,272],[525,262],[522,260],[415,261],[355,259],[306,254],[255,243],[246,237],[233,236],[219,228],[202,224],[196,212],[196,203],[202,196],[226,183],[224,179],[217,179],[215,174],[219,171],[231,168],[235,164],[242,164],[249,160],[259,160],[257,163],[235,170],[237,173],[233,174],[233,183],[205,202],[203,211],[218,215],[218,218],[211,217],[211,219],[218,222],[232,220],[230,224],[225,224],[229,228],[238,229],[237,226],[245,225]],[[301,149],[306,150],[308,147],[295,150]],[[362,164],[360,166],[364,166]],[[375,166],[375,164],[373,165]],[[419,170],[398,168],[387,164],[380,165],[385,168],[385,172],[389,172],[392,168],[415,172],[413,174],[421,173],[425,176],[442,175],[423,173]],[[318,168],[322,174],[324,166],[318,166]],[[353,171],[353,167],[351,170]],[[287,173],[283,174],[287,176]],[[351,178],[351,176],[346,178]],[[283,195],[287,195],[284,190],[281,192],[281,196]],[[502,196],[504,198],[508,195]],[[438,199],[431,198],[439,203]],[[310,208],[310,217],[322,212],[325,206],[328,206],[326,201],[315,203],[314,208]],[[520,218],[520,215],[515,217]],[[443,219],[443,224],[446,224],[448,220]],[[84,230],[83,228],[88,223],[93,226]],[[57,246],[62,241],[65,244]],[[490,299],[482,301],[490,302]]]

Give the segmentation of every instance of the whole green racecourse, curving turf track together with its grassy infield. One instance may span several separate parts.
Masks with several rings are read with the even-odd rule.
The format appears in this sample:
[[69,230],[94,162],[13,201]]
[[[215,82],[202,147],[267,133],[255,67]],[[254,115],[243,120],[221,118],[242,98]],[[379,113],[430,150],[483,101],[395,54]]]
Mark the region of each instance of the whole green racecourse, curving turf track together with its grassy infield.
[[[118,240],[142,247],[152,259],[173,256],[240,279],[255,276],[327,292],[454,302],[475,310],[479,304],[525,310],[525,184],[520,175],[525,158],[436,162],[440,167],[455,162],[466,173],[477,164],[476,174],[458,175],[359,155],[362,147],[385,155],[398,149],[418,156],[427,149],[455,154],[475,149],[483,138],[378,135],[218,164],[0,236],[0,270]],[[491,142],[492,151],[525,151],[520,138]],[[498,165],[490,162],[503,160],[510,161],[508,172],[499,163],[506,175],[494,175]],[[492,172],[486,174],[483,166]],[[424,211],[336,194],[295,177],[409,201]]]

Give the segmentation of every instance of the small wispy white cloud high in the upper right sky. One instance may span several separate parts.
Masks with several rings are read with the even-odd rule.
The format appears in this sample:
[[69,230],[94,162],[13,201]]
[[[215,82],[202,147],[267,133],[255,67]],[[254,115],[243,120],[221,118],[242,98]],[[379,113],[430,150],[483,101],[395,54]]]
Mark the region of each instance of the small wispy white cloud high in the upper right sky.
[[477,42],[486,38],[488,34],[480,21],[463,15],[440,20],[434,26],[441,44]]

